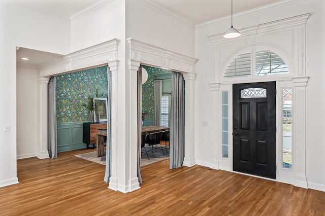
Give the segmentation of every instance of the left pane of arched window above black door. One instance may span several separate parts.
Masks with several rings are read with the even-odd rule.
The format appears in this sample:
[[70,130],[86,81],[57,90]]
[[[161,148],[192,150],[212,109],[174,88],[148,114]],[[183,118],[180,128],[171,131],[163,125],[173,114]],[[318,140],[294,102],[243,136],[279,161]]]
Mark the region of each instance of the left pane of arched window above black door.
[[225,69],[223,77],[243,77],[250,75],[250,53],[236,56]]

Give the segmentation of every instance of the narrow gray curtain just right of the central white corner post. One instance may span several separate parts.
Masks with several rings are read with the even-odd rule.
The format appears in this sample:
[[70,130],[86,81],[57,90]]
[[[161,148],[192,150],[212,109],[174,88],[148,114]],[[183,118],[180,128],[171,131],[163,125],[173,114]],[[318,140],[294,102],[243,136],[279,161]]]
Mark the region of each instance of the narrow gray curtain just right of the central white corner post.
[[142,128],[142,66],[140,65],[138,70],[138,79],[137,79],[137,101],[138,101],[138,139],[137,139],[137,145],[138,145],[138,151],[137,151],[137,170],[138,170],[138,178],[139,183],[142,184],[142,177],[141,177],[141,128]]

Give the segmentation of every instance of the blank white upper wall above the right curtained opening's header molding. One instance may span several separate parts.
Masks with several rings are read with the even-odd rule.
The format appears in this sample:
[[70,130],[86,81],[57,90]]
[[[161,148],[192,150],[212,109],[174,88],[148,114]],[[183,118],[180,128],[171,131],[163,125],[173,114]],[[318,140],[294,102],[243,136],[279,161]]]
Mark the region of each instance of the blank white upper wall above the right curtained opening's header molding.
[[126,38],[194,56],[194,26],[139,0],[126,0]]

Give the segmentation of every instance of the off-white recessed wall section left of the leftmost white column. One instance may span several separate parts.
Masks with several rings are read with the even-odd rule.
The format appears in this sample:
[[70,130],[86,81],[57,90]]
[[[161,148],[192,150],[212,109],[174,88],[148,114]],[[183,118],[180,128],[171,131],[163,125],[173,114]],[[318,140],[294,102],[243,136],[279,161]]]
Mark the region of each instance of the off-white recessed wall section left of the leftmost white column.
[[17,67],[17,159],[37,156],[37,69]]

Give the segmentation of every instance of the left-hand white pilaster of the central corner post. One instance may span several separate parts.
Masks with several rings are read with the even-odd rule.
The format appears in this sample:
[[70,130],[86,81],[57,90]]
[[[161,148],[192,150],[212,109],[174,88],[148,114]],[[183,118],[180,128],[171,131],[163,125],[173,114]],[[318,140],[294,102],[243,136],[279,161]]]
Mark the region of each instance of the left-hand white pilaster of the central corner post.
[[111,178],[109,183],[109,189],[117,191],[118,189],[118,178],[117,178],[117,69],[118,69],[119,61],[110,61],[108,62],[108,66],[112,71],[112,86],[111,86],[111,94],[112,94],[112,110],[111,110]]

